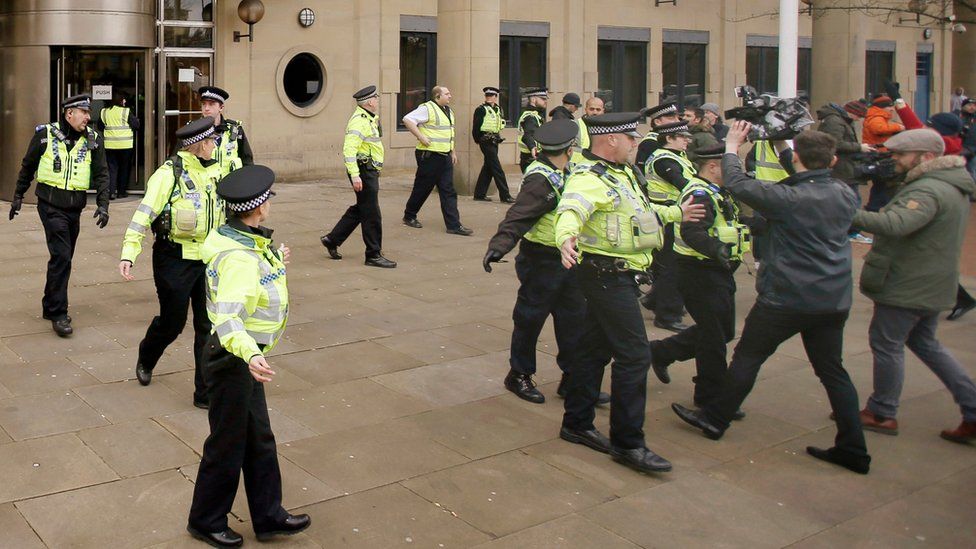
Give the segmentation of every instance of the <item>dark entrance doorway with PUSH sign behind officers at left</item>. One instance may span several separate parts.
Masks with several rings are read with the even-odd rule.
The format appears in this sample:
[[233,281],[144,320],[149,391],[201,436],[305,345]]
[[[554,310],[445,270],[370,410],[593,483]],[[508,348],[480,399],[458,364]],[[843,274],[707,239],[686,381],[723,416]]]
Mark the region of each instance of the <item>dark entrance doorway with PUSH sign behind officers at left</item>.
[[[154,104],[147,83],[146,67],[151,66],[149,50],[111,48],[51,48],[51,120],[60,116],[61,102],[72,95],[92,95],[92,124],[101,120],[101,111],[112,104],[114,94],[124,94],[127,106],[139,119],[135,133],[129,191],[144,192],[146,179],[155,167],[152,161]],[[150,93],[147,99],[147,92]],[[146,105],[150,105],[147,115]],[[96,126],[97,127],[97,126]]]

